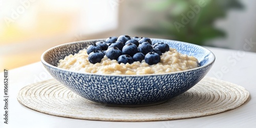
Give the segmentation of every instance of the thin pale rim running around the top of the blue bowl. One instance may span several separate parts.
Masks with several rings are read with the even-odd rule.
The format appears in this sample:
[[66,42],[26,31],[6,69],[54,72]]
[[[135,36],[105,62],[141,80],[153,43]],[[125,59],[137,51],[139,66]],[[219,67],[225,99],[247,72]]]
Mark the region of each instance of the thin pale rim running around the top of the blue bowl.
[[61,47],[61,46],[65,46],[65,45],[72,45],[72,44],[77,44],[79,42],[84,42],[84,41],[95,41],[95,40],[105,40],[106,38],[100,38],[100,39],[88,39],[88,40],[79,40],[79,41],[73,41],[73,42],[67,42],[65,44],[61,44],[61,45],[57,45],[57,46],[54,46],[48,50],[46,50],[44,53],[42,53],[41,55],[41,62],[48,66],[48,67],[51,67],[53,69],[57,69],[57,70],[62,70],[62,71],[66,71],[66,72],[73,72],[73,73],[78,73],[78,74],[83,74],[83,75],[97,75],[97,76],[119,76],[119,77],[127,77],[127,76],[130,76],[130,77],[143,77],[143,76],[155,76],[155,75],[170,75],[170,74],[178,74],[178,73],[184,73],[184,72],[189,72],[189,71],[193,71],[193,70],[198,70],[198,69],[202,69],[202,68],[205,68],[211,64],[213,64],[215,62],[215,54],[212,53],[209,49],[203,47],[203,46],[199,46],[199,45],[196,45],[196,44],[191,44],[189,42],[183,42],[183,41],[178,41],[178,40],[172,40],[172,39],[162,39],[162,38],[151,38],[151,39],[156,39],[156,40],[170,40],[170,41],[176,41],[176,42],[181,42],[183,44],[187,44],[187,45],[195,45],[197,47],[200,47],[204,50],[207,50],[209,51],[211,54],[212,54],[212,57],[213,59],[211,61],[209,61],[206,65],[204,66],[200,66],[200,67],[197,67],[197,68],[194,68],[194,69],[188,69],[188,70],[183,70],[183,71],[177,71],[177,72],[169,72],[169,73],[158,73],[158,74],[136,74],[136,75],[125,75],[125,74],[96,74],[96,73],[87,73],[87,72],[81,72],[81,71],[73,71],[73,70],[68,70],[68,69],[62,69],[62,68],[58,68],[56,66],[53,66],[51,65],[50,63],[46,62],[45,59],[44,59],[44,56],[46,55],[46,53],[48,53],[49,51],[55,49],[55,48],[58,48],[58,47]]

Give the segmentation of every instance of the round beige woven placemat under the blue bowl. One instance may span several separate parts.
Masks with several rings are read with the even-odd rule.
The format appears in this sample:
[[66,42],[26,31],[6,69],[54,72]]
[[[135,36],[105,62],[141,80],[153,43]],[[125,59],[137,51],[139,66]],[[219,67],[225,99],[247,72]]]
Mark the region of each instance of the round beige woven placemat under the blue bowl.
[[243,87],[204,77],[187,92],[164,103],[138,108],[95,104],[55,79],[30,84],[17,99],[30,109],[54,116],[105,121],[157,121],[221,113],[242,105],[249,97]]

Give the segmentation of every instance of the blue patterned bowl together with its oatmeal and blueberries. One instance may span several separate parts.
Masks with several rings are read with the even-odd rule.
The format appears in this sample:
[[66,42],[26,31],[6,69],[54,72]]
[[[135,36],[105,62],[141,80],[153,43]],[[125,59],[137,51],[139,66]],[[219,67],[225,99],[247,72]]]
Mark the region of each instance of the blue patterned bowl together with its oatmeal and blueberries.
[[53,78],[77,95],[122,106],[152,105],[182,94],[215,61],[212,52],[187,42],[119,37],[56,46],[44,52],[41,61]]

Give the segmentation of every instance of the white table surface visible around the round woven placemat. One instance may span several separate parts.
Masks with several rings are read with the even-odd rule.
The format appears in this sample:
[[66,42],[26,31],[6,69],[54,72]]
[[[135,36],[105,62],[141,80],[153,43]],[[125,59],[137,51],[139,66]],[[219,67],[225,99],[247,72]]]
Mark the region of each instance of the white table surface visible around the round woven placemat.
[[[0,127],[254,127],[256,125],[256,53],[245,50],[227,50],[206,47],[216,55],[216,61],[207,76],[226,80],[244,87],[249,99],[234,110],[223,113],[168,121],[112,122],[57,117],[27,108],[17,101],[20,89],[52,77],[41,62],[9,71],[9,124],[3,120],[4,100],[0,101]],[[3,77],[3,71],[1,75]],[[0,79],[1,85],[4,79]],[[4,97],[4,87],[0,87]]]

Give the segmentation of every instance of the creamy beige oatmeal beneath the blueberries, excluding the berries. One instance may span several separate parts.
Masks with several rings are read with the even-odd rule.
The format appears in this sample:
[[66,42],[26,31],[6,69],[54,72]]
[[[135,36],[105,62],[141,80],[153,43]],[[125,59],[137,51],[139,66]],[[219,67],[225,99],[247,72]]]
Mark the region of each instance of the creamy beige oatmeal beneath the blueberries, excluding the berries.
[[160,56],[161,61],[156,65],[148,65],[144,60],[132,64],[118,63],[104,56],[100,63],[90,63],[86,49],[80,50],[77,54],[66,56],[60,59],[59,68],[81,71],[96,74],[157,74],[177,72],[198,67],[198,60],[193,56],[187,56],[170,48],[169,51]]

